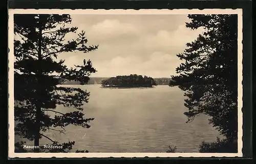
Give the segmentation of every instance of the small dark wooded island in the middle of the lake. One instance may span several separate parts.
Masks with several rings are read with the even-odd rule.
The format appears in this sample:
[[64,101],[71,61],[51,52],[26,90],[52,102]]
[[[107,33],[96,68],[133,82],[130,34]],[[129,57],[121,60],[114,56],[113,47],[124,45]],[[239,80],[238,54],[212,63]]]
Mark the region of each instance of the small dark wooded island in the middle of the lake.
[[101,86],[104,88],[153,87],[156,86],[156,81],[152,77],[131,74],[104,79],[101,81]]

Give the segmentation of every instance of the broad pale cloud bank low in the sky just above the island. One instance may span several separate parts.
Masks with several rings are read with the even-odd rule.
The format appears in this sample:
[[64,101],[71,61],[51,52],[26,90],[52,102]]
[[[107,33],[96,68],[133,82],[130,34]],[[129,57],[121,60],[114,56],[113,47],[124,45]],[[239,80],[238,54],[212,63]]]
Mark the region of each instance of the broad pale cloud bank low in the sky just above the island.
[[150,59],[144,61],[139,56],[116,57],[108,61],[93,62],[98,72],[93,76],[116,76],[141,74],[152,77],[169,77],[175,74],[175,68],[180,61],[176,57],[163,53],[153,52]]

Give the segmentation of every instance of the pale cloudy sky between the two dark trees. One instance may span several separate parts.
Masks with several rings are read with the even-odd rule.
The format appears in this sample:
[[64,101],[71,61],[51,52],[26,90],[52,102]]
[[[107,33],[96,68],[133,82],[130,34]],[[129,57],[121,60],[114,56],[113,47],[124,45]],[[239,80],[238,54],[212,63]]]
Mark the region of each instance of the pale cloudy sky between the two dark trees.
[[[99,45],[88,53],[61,53],[68,67],[91,60],[97,70],[91,77],[146,75],[170,77],[182,61],[176,56],[203,32],[190,30],[187,15],[71,15],[71,26],[85,31],[88,45]],[[77,34],[67,35],[74,39]]]

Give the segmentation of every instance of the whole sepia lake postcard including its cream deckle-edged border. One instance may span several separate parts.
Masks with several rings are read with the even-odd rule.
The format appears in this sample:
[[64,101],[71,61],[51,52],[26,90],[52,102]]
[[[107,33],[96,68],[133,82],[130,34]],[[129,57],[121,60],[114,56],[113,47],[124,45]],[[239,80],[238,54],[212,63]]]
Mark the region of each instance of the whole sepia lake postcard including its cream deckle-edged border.
[[242,156],[241,13],[10,10],[9,156]]

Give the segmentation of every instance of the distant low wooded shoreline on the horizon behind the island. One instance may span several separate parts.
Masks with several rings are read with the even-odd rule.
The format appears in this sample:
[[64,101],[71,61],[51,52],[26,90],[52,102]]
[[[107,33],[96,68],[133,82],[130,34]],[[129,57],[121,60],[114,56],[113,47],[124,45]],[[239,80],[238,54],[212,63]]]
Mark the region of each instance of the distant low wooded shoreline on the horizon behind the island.
[[[55,78],[59,78],[59,77],[56,76]],[[85,85],[101,85],[103,80],[107,80],[110,78],[111,77],[90,77],[88,83]],[[172,78],[168,78],[168,77],[158,77],[158,78],[153,78],[153,79],[155,80],[155,83],[157,86],[169,85],[170,81],[172,80]],[[63,81],[62,80],[60,82],[60,85],[79,85],[79,81],[67,80],[67,79],[64,79]],[[126,87],[126,88],[128,88],[128,87]]]

